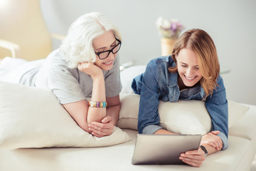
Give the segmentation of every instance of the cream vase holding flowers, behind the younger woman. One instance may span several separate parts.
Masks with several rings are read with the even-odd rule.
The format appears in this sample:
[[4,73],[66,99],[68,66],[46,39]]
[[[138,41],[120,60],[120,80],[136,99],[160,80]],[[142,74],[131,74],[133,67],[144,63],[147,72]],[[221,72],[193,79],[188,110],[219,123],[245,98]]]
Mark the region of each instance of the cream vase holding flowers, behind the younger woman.
[[161,56],[171,55],[176,41],[174,38],[161,38]]

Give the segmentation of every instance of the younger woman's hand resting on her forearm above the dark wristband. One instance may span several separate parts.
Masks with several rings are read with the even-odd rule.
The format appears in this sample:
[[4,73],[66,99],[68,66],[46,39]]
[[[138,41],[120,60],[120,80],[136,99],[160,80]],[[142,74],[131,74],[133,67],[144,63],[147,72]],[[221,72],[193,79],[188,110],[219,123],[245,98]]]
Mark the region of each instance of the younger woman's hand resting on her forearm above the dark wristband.
[[223,142],[221,138],[217,136],[218,133],[220,133],[220,131],[215,130],[207,133],[206,135],[203,135],[200,145],[208,144],[212,147],[215,147],[216,150],[220,151],[223,148]]

